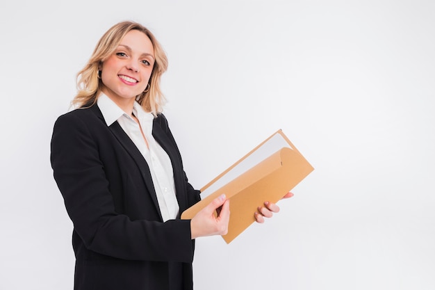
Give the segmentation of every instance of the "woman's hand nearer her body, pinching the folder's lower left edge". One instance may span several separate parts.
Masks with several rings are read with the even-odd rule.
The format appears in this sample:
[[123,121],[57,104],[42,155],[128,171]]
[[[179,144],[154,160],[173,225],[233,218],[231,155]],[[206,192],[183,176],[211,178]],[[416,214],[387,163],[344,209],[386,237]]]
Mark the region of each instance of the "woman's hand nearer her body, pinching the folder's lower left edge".
[[[217,212],[217,215],[215,214]],[[190,220],[192,239],[199,236],[224,235],[228,233],[229,200],[220,195]]]

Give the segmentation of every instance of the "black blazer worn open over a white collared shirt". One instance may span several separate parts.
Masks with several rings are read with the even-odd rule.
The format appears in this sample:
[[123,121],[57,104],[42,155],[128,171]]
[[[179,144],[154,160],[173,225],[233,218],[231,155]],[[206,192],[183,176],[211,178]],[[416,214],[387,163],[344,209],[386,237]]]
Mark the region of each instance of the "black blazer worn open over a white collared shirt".
[[[153,136],[170,156],[180,213],[199,201],[160,114]],[[163,223],[147,162],[97,105],[61,115],[51,166],[74,224],[74,289],[192,289],[190,220]]]

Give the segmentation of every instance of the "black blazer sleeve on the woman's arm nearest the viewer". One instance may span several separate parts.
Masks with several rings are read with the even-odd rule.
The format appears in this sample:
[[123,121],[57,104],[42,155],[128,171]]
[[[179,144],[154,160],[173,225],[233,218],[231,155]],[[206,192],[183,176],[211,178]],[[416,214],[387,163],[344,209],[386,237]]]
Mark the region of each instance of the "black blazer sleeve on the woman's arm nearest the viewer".
[[85,247],[120,259],[191,263],[190,220],[131,220],[115,211],[99,158],[101,140],[89,123],[67,113],[56,120],[51,138],[54,178]]

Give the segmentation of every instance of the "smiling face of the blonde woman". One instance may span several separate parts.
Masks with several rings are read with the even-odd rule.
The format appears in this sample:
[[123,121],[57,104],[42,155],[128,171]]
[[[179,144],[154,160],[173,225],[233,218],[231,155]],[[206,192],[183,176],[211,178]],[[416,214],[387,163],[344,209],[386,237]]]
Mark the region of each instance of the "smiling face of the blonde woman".
[[136,96],[147,89],[154,59],[148,36],[138,30],[129,31],[100,67],[102,92],[130,113]]

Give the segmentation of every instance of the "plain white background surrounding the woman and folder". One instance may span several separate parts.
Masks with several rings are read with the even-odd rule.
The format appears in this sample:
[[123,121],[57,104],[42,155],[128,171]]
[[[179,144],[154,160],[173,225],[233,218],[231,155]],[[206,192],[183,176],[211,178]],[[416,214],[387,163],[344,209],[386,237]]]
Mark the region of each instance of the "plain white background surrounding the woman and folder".
[[315,170],[227,245],[197,240],[195,289],[435,289],[435,2],[2,1],[0,289],[72,289],[54,121],[113,24],[167,51],[170,121],[206,184],[283,129]]

